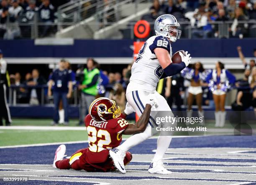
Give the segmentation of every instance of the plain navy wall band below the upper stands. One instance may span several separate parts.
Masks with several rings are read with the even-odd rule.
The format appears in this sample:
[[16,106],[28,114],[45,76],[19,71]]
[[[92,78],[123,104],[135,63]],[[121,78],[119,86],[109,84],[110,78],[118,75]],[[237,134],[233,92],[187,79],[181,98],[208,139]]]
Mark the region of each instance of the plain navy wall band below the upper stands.
[[[256,39],[180,39],[172,44],[173,52],[187,50],[193,57],[238,57],[240,45],[246,57],[253,57]],[[10,58],[84,58],[132,57],[133,40],[73,40],[65,45],[45,45],[37,40],[1,40],[0,48]],[[54,43],[51,43],[54,44]],[[17,61],[18,62],[18,61]]]

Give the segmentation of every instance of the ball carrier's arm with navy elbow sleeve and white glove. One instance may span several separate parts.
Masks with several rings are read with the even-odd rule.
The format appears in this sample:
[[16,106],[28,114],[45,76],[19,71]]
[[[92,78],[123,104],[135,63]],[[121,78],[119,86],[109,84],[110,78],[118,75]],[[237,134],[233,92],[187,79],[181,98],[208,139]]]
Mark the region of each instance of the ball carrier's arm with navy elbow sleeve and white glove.
[[182,58],[182,62],[179,64],[174,64],[172,63],[172,58],[169,55],[168,50],[161,48],[161,47],[156,47],[154,49],[154,52],[156,54],[156,57],[161,65],[161,67],[164,70],[164,73],[167,76],[173,76],[176,75],[177,73],[181,72],[185,67],[187,67],[190,63],[190,54],[184,56],[181,52],[179,52],[179,55]]

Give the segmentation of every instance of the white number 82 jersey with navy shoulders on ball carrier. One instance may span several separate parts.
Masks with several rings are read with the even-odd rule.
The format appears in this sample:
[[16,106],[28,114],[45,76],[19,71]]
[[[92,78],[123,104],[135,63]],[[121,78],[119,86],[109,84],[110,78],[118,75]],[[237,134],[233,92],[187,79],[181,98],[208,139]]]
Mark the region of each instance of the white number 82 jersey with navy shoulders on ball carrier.
[[134,90],[151,93],[156,91],[156,85],[164,73],[154,52],[156,47],[166,49],[172,57],[172,47],[168,38],[156,35],[146,40],[131,68],[126,94]]

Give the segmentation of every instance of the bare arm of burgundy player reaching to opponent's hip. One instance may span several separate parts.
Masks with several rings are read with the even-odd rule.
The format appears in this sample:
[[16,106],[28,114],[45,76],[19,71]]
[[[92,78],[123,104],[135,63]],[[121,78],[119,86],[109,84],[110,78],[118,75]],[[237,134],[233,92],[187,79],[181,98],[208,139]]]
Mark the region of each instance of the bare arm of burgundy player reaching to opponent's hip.
[[145,107],[140,119],[135,124],[129,124],[128,127],[125,128],[125,130],[122,132],[122,134],[132,135],[132,134],[143,132],[148,125],[150,112],[151,112],[151,105],[146,104],[146,107]]

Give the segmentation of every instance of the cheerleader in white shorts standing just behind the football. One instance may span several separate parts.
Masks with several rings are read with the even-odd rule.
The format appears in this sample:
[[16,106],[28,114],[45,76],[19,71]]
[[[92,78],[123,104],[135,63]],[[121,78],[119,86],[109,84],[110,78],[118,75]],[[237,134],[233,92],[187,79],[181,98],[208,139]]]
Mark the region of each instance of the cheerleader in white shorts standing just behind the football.
[[184,77],[190,81],[188,87],[188,97],[187,97],[187,117],[192,117],[192,104],[196,100],[198,107],[198,115],[204,117],[204,111],[202,110],[202,77],[204,72],[204,67],[201,62],[196,62],[192,68],[188,68]]

